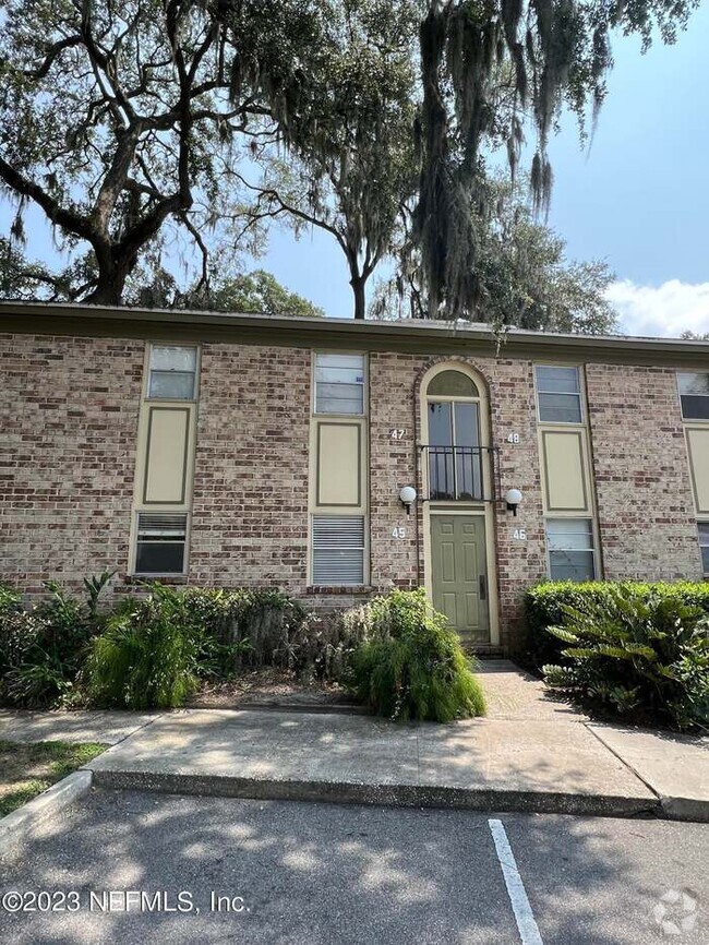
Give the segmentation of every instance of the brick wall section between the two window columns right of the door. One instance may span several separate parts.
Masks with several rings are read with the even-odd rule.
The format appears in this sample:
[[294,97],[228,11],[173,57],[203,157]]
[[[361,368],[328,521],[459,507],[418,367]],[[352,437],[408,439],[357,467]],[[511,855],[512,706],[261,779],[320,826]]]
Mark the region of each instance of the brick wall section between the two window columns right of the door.
[[701,579],[676,375],[586,369],[604,576]]

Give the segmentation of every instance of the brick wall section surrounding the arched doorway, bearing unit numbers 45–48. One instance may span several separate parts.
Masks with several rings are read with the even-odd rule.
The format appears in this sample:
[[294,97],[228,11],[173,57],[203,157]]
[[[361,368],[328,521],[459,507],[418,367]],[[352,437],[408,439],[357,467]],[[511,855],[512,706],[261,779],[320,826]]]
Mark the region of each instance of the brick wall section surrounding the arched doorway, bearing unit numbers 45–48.
[[[409,517],[397,497],[399,488],[407,485],[416,486],[422,495],[417,444],[422,438],[423,378],[434,364],[456,360],[477,370],[488,383],[491,443],[498,447],[496,494],[515,487],[525,497],[516,517],[504,502],[494,504],[501,643],[514,648],[521,631],[521,591],[546,573],[531,362],[371,355],[372,583],[381,588],[387,584],[408,587],[423,583],[423,504],[418,502],[416,517]],[[406,431],[404,440],[390,439],[390,430],[397,428]],[[507,443],[507,435],[515,432],[520,442]],[[406,528],[405,540],[392,537],[395,526]],[[526,531],[526,540],[515,540],[516,529]]]

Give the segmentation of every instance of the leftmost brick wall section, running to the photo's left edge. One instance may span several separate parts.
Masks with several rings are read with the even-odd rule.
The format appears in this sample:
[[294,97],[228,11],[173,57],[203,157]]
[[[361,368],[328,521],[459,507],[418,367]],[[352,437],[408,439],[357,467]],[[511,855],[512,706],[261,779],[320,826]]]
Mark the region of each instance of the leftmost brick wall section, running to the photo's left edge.
[[0,575],[128,565],[144,343],[0,336]]

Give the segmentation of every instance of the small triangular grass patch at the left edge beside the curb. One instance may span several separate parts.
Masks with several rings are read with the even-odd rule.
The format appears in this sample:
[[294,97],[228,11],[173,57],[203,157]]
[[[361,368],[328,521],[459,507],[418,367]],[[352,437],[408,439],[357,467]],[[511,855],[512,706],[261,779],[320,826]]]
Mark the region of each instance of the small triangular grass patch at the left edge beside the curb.
[[0,741],[0,817],[26,804],[106,749],[107,745],[97,742]]

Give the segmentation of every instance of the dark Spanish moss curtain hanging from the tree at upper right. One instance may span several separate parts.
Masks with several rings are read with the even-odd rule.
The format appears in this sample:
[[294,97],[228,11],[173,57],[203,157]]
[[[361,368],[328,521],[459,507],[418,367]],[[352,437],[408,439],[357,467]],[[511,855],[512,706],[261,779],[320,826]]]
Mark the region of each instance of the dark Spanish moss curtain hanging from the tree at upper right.
[[[476,312],[481,320],[488,318],[483,302],[494,307],[493,292],[481,296],[483,255],[468,214],[474,207],[484,213],[488,153],[504,148],[514,178],[519,122],[526,119],[536,137],[532,203],[545,210],[554,119],[567,105],[586,136],[605,97],[613,29],[638,33],[647,47],[659,28],[671,43],[697,5],[698,0],[538,0],[528,7],[430,0],[421,27],[421,181],[413,231],[429,318]],[[498,311],[490,320],[505,324]]]

